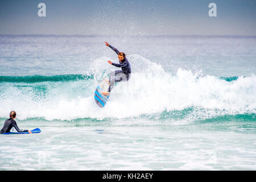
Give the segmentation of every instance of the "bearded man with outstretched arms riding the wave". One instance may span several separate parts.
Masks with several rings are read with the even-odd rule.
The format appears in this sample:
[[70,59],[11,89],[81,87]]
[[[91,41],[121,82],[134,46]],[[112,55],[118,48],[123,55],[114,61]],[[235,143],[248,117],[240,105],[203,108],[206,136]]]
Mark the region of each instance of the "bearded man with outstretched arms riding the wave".
[[110,46],[108,42],[105,42],[106,46],[112,48],[115,53],[118,55],[119,64],[112,63],[112,61],[108,60],[109,64],[112,64],[115,67],[121,68],[122,70],[110,72],[109,80],[106,80],[109,82],[109,90],[108,92],[102,92],[104,95],[108,96],[110,91],[113,89],[115,82],[120,81],[128,81],[131,76],[131,66],[129,61],[126,58],[125,53],[119,52],[116,48],[113,46]]

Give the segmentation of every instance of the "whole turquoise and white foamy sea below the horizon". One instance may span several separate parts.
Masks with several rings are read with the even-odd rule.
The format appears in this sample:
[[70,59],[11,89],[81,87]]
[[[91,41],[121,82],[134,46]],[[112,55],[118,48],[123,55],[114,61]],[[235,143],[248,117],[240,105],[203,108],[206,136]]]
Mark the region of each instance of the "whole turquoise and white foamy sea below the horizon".
[[[104,41],[132,74],[100,108]],[[0,127],[42,132],[0,135],[0,170],[256,170],[255,74],[255,36],[1,35]]]

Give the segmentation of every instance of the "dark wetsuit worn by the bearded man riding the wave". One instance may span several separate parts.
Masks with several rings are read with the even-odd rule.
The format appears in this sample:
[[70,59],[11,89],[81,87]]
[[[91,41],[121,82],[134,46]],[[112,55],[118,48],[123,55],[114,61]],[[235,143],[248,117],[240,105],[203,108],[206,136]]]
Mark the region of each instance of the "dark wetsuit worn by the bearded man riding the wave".
[[[119,51],[117,50],[117,48],[114,48],[113,46],[110,46],[110,48],[113,49],[113,51],[115,51],[115,53],[119,53]],[[127,58],[125,57],[124,60],[121,61],[121,63],[119,62],[119,64],[116,63],[112,63],[113,66],[118,67],[122,69],[122,71],[114,71],[110,73],[109,76],[109,92],[112,90],[112,88],[114,87],[114,83],[115,82],[120,82],[120,81],[128,81],[130,79],[131,76],[131,66],[129,61],[127,60]]]

